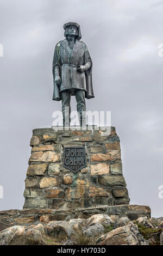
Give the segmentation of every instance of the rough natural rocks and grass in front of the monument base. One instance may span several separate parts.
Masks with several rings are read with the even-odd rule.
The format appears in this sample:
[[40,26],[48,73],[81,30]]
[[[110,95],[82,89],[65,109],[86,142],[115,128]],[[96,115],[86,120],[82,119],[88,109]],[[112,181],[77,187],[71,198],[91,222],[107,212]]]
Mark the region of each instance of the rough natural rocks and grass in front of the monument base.
[[0,245],[163,245],[163,217],[95,214],[87,219],[13,225],[0,233]]

